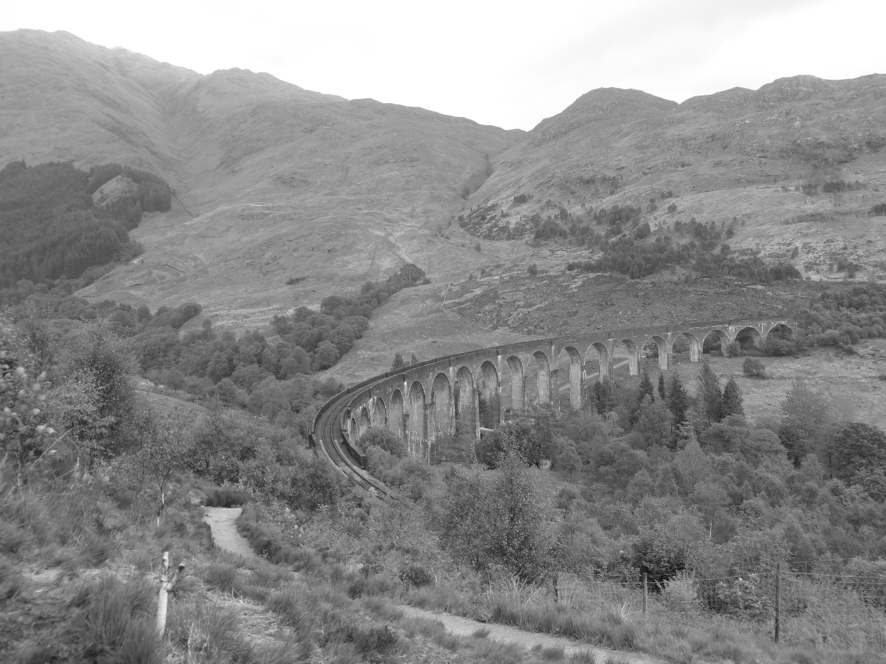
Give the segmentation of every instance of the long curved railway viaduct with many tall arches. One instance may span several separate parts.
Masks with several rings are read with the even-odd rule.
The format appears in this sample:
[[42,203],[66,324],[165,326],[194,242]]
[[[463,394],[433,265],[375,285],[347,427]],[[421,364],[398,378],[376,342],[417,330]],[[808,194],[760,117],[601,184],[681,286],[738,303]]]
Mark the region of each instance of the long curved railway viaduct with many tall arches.
[[[637,375],[641,357],[657,357],[658,366],[666,370],[677,352],[698,362],[703,350],[716,342],[721,348],[735,341],[762,346],[773,331],[793,334],[800,322],[797,316],[704,320],[537,339],[448,355],[348,388],[323,406],[312,436],[320,439],[339,467],[361,457],[360,439],[369,427],[391,429],[411,454],[430,460],[434,442],[454,434],[456,422],[462,425],[460,429],[472,429],[479,437],[481,428],[495,429],[509,414],[524,413],[535,405],[549,405],[556,411],[577,409],[587,397],[587,386],[604,377],[611,380],[617,365],[627,364],[630,374]],[[335,445],[335,452],[344,457],[339,444],[351,459],[337,459],[330,451],[330,445]]]

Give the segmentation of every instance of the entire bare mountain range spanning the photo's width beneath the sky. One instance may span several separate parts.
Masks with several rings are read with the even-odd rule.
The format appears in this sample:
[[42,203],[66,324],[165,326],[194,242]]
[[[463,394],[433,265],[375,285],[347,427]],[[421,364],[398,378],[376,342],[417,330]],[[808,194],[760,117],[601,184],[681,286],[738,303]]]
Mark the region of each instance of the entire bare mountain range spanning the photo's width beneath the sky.
[[[133,231],[139,263],[84,297],[196,299],[214,320],[251,326],[404,262],[443,284],[491,266],[553,269],[532,224],[562,209],[593,225],[591,212],[612,205],[639,206],[654,234],[677,220],[734,221],[735,248],[762,246],[814,278],[842,278],[828,273],[840,256],[876,278],[886,251],[866,212],[886,187],[882,74],[786,77],[680,104],[595,89],[523,132],[268,73],[199,74],[69,33],[2,33],[0,58],[11,63],[0,73],[0,160],[117,161],[175,188],[173,210]],[[828,177],[862,189],[799,190]],[[661,197],[672,200],[649,201]],[[816,213],[832,221],[785,225]],[[563,265],[588,255],[569,242],[550,253]],[[786,258],[791,247],[798,257]]]

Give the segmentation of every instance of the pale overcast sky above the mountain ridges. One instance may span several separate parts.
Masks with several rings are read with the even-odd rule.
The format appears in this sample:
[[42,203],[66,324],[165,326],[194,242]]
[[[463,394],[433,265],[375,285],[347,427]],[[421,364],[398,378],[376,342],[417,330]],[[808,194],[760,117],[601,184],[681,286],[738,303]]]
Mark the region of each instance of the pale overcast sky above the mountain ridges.
[[595,88],[681,102],[799,73],[886,73],[886,0],[8,5],[0,30],[67,30],[200,73],[269,72],[506,128],[531,129]]

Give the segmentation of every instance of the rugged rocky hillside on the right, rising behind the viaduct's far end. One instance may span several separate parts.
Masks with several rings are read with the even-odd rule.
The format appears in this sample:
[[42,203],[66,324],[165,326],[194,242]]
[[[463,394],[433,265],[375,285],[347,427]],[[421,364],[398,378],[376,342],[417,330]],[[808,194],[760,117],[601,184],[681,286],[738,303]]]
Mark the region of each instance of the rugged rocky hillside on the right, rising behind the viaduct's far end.
[[595,89],[501,155],[462,225],[532,237],[548,218],[595,228],[594,212],[632,206],[653,232],[732,225],[734,250],[793,259],[813,279],[842,279],[841,259],[882,278],[884,220],[869,212],[886,201],[884,146],[881,74],[796,76],[682,104]]

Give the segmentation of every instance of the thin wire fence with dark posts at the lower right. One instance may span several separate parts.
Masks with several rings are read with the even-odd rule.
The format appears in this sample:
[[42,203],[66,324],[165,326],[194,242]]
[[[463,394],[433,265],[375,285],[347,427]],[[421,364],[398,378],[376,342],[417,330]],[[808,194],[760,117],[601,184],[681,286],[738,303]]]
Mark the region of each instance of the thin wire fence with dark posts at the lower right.
[[561,573],[557,598],[582,613],[683,626],[726,620],[788,644],[886,649],[886,575],[777,565],[649,583]]

